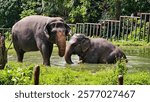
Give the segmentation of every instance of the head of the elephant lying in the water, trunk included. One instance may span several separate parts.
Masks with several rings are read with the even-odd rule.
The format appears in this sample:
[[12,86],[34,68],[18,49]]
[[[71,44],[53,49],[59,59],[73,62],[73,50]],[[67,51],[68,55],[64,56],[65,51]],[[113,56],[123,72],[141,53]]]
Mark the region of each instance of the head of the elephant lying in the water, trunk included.
[[72,64],[71,55],[77,54],[84,56],[91,46],[90,39],[84,34],[75,34],[71,37],[65,52],[65,60],[68,64]]

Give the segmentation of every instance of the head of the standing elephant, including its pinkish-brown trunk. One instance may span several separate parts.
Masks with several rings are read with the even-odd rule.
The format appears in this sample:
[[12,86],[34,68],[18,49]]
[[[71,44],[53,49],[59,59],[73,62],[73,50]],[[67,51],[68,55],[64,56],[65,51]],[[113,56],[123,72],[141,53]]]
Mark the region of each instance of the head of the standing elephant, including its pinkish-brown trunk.
[[53,17],[45,24],[44,33],[51,43],[55,43],[59,49],[59,56],[63,57],[66,48],[66,36],[70,27],[60,17]]

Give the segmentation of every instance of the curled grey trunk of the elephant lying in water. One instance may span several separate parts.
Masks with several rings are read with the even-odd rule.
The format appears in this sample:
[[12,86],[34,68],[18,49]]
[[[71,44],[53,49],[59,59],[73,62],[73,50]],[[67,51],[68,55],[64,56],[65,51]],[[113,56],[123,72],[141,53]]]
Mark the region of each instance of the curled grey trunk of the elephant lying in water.
[[73,62],[71,61],[72,53],[73,51],[72,51],[71,45],[68,45],[66,48],[66,53],[65,53],[65,60],[68,64],[73,64]]

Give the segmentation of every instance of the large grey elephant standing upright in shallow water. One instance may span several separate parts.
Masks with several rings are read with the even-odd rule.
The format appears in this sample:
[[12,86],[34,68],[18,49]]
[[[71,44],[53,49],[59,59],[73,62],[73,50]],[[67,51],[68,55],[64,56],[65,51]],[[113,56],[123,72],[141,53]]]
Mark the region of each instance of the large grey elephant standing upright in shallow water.
[[63,57],[69,31],[70,27],[61,17],[31,15],[21,19],[12,27],[12,42],[17,61],[23,62],[25,52],[39,50],[43,65],[50,66],[53,44],[58,46],[59,56]]

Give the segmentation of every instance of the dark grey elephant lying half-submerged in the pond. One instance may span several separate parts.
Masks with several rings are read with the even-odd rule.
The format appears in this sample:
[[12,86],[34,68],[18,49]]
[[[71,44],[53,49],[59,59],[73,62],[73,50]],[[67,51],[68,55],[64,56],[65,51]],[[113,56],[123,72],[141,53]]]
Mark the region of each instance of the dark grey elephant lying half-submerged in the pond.
[[[65,52],[65,60],[68,64],[73,64],[71,56],[76,54],[82,63],[116,63],[117,59],[126,55],[106,39],[89,39],[83,34],[75,34],[69,41]],[[127,60],[126,60],[127,61]]]

